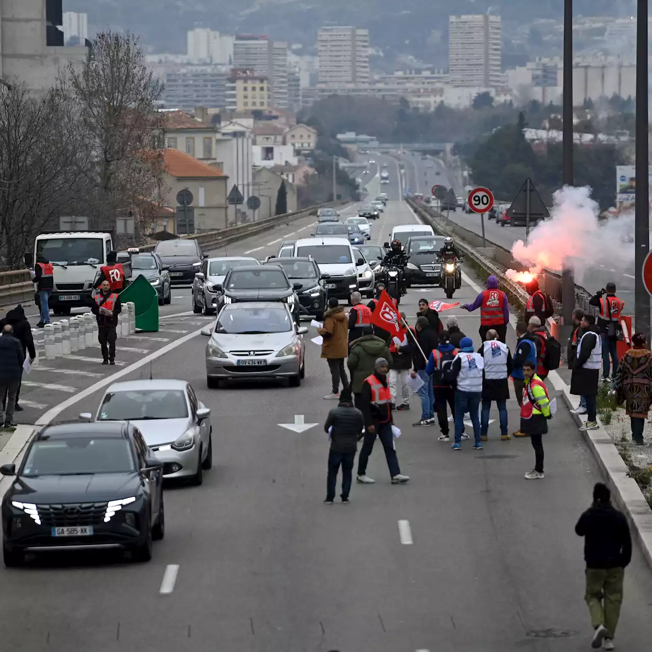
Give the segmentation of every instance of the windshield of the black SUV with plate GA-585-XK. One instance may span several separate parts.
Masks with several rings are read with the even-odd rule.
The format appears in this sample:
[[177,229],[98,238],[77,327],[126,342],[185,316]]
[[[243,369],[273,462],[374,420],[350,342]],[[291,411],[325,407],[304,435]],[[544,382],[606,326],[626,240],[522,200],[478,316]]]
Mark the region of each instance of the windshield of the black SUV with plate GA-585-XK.
[[136,460],[128,439],[71,437],[35,441],[27,453],[22,475],[85,475],[134,473]]

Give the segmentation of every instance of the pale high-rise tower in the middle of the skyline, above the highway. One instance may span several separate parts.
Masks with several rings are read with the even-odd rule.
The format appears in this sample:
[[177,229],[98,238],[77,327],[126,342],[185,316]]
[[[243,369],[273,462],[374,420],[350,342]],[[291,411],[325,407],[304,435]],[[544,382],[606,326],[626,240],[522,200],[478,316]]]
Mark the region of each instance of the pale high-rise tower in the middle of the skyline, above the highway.
[[321,27],[317,37],[319,85],[369,83],[369,30]]

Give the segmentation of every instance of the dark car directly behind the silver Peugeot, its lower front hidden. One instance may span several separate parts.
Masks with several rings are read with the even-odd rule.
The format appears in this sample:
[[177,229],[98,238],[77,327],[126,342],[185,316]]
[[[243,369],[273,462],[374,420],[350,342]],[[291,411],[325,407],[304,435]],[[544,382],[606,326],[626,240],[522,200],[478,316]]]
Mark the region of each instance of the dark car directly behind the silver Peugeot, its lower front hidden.
[[251,265],[230,269],[222,286],[217,312],[226,303],[243,301],[282,301],[287,303],[297,325],[299,325],[299,297],[297,291],[303,289],[303,283],[291,282],[282,267],[278,265]]

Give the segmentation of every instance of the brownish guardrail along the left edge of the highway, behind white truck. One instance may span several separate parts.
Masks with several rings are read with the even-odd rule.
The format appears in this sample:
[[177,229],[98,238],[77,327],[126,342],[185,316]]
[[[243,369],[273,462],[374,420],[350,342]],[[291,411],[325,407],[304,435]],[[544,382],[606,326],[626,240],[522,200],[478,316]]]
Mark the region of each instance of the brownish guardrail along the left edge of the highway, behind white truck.
[[[192,233],[192,235],[182,235],[183,240],[196,240],[200,243],[203,250],[215,249],[224,244],[230,244],[241,240],[256,233],[262,233],[270,228],[289,224],[312,215],[320,208],[340,206],[349,203],[349,201],[331,201],[318,206],[311,206],[301,211],[285,213],[284,215],[274,215],[265,220],[257,222],[246,222],[238,226],[230,226],[218,231],[205,231],[204,233]],[[141,251],[153,251],[156,244],[144,244],[140,247]],[[29,271],[27,269],[18,269],[8,272],[0,272],[0,306],[15,306],[18,303],[31,303],[34,301],[34,284],[29,280]]]

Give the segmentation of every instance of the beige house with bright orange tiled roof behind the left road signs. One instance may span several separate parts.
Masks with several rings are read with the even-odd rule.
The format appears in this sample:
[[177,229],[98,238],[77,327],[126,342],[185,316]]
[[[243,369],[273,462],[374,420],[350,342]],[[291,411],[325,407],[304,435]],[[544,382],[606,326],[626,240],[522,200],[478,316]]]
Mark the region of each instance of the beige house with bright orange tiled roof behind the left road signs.
[[[178,149],[164,149],[162,157],[166,170],[166,204],[177,207],[179,190],[187,189],[192,193],[190,209],[194,230],[192,227],[188,230],[192,233],[226,228],[228,176],[222,170],[202,163]],[[175,233],[180,230],[179,220],[185,221],[185,216],[179,209],[177,207]],[[181,231],[185,231],[185,228],[181,228]]]

